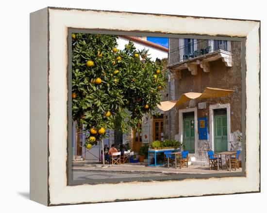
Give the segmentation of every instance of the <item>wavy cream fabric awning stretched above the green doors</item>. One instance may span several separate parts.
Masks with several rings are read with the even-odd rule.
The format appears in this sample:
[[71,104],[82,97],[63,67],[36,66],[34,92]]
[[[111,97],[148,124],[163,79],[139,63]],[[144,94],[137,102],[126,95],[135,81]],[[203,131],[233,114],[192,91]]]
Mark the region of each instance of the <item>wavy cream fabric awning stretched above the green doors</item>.
[[202,93],[200,93],[200,92],[187,92],[187,93],[182,94],[178,100],[163,101],[160,103],[160,105],[157,105],[157,106],[162,111],[168,111],[172,107],[183,104],[184,102],[190,101],[191,99],[217,98],[217,97],[229,95],[232,92],[234,92],[234,91],[233,90],[224,90],[224,89],[206,87]]

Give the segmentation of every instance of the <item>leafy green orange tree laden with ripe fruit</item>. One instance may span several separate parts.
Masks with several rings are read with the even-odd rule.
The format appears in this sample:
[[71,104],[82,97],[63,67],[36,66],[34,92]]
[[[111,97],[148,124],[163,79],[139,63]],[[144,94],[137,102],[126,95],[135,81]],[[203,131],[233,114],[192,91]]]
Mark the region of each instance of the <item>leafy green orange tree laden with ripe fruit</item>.
[[105,129],[120,130],[141,122],[161,101],[165,87],[162,63],[132,42],[117,49],[116,35],[72,34],[72,119],[97,143]]

